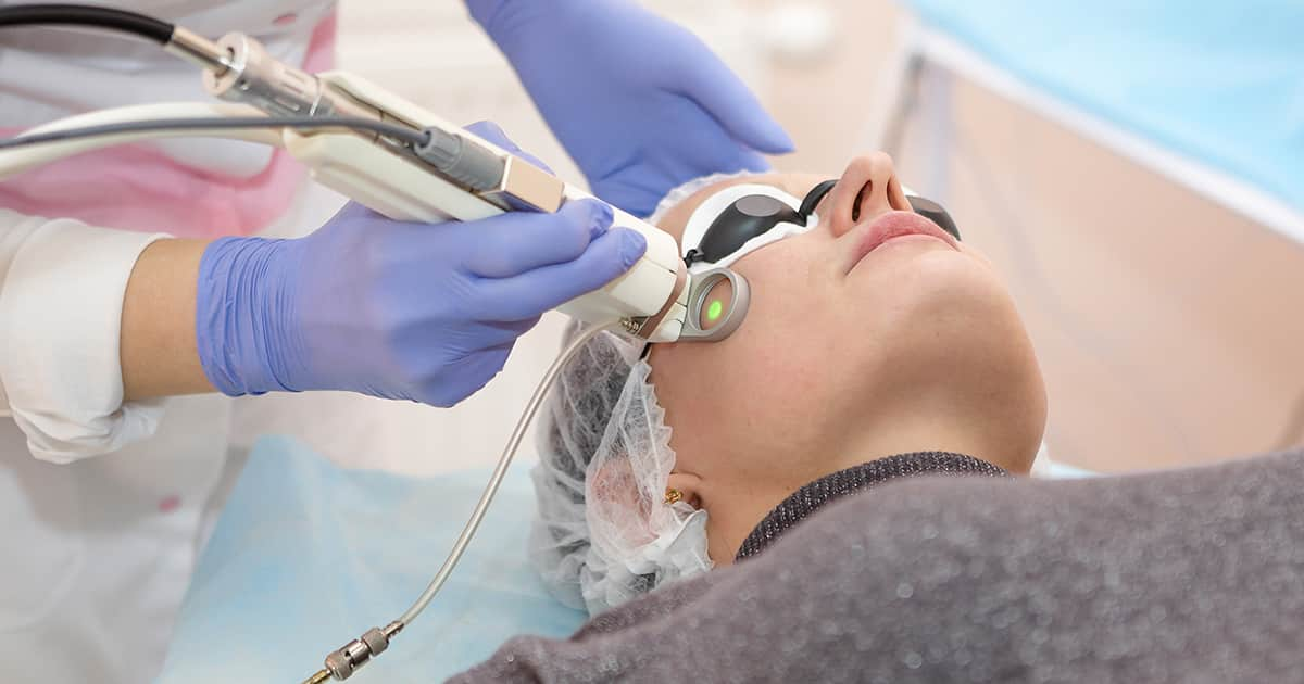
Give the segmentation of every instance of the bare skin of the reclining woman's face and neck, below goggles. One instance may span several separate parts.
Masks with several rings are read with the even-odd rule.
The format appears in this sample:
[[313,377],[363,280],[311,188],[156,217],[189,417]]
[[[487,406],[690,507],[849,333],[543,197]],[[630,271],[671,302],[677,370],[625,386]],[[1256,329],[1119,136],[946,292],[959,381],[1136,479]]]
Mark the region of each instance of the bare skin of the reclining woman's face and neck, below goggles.
[[[661,228],[679,238],[698,205],[728,185],[799,199],[823,180],[725,181],[674,207]],[[883,242],[927,228],[909,208],[887,155],[857,158],[815,229],[734,262],[751,307],[730,337],[655,345],[675,472],[691,474],[703,506],[726,491],[790,492],[908,451],[964,451],[1026,472],[1046,405],[1013,302],[970,246],[925,235]]]

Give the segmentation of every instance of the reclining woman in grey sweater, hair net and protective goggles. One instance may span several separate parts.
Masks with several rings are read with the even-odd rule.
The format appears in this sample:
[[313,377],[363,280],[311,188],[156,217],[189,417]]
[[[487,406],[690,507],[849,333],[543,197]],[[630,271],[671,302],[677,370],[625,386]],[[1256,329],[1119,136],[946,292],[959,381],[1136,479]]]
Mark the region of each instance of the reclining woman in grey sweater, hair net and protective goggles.
[[[532,554],[595,618],[455,680],[1297,676],[1304,460],[1011,477],[1046,397],[999,278],[910,211],[885,155],[824,180],[661,203],[695,268],[746,276],[747,317],[720,343],[580,353],[542,430]],[[711,231],[776,201],[792,220],[763,235]]]

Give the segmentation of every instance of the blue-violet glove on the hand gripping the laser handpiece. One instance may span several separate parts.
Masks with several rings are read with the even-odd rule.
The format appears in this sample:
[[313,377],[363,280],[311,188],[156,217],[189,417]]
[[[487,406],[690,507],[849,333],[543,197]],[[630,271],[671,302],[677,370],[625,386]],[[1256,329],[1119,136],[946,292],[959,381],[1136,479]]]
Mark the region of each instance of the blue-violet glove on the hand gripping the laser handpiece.
[[[515,150],[496,126],[472,130]],[[451,406],[544,311],[642,257],[643,236],[610,225],[595,201],[438,225],[349,203],[301,238],[222,238],[200,263],[200,361],[232,396],[344,390]]]

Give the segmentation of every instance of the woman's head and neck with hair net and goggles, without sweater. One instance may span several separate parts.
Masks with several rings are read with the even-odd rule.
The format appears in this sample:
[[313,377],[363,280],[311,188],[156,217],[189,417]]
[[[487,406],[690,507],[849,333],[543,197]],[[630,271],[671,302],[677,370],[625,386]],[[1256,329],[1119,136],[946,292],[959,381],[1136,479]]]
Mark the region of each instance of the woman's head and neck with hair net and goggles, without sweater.
[[[708,178],[652,218],[708,254],[692,268],[743,275],[751,305],[722,341],[639,361],[640,343],[605,335],[562,377],[532,545],[563,602],[597,614],[730,565],[889,478],[1028,472],[1046,393],[995,272],[909,212],[887,155],[854,160],[819,199],[825,180]],[[799,215],[807,197],[807,220],[719,235],[730,211]]]

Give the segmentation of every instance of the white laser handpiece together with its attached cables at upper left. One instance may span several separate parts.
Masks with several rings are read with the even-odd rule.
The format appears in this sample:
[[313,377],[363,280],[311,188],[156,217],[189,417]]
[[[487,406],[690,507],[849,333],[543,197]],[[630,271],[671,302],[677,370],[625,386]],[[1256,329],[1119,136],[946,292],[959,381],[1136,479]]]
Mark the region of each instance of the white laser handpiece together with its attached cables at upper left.
[[[556,211],[566,201],[592,197],[364,78],[286,65],[241,33],[209,40],[143,14],[85,5],[0,8],[0,27],[35,23],[96,26],[154,40],[202,68],[214,96],[240,104],[123,107],[38,126],[0,146],[0,177],[96,147],[189,132],[282,147],[316,181],[396,220],[473,221],[505,211]],[[159,120],[176,112],[190,120]],[[258,116],[266,128],[256,133]],[[219,117],[239,121],[200,125]],[[94,125],[73,128],[85,124]],[[241,132],[233,133],[236,128]],[[87,139],[91,129],[98,139]],[[613,210],[613,224],[642,233],[647,251],[626,274],[558,310],[589,323],[618,321],[649,341],[719,340],[737,327],[715,324],[707,334],[707,326],[692,324],[690,294],[702,279],[687,272],[674,238]],[[745,296],[734,297],[725,321],[741,321],[746,306]]]

